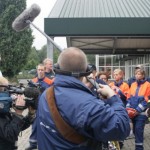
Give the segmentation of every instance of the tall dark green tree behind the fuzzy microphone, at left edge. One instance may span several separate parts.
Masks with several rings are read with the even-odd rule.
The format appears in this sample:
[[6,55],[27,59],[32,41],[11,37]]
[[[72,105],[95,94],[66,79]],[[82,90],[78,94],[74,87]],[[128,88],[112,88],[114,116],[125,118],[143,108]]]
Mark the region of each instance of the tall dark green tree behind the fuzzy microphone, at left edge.
[[31,29],[16,32],[14,19],[26,8],[26,0],[0,0],[0,69],[13,77],[24,67],[33,42]]

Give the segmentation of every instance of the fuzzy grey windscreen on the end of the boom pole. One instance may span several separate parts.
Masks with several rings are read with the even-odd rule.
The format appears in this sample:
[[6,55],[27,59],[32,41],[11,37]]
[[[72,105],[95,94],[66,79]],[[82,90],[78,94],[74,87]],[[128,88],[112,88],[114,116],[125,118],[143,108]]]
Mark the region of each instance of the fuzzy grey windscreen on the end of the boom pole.
[[33,4],[30,8],[25,9],[12,23],[12,28],[19,32],[29,26],[29,22],[32,22],[40,13],[41,8],[37,4]]

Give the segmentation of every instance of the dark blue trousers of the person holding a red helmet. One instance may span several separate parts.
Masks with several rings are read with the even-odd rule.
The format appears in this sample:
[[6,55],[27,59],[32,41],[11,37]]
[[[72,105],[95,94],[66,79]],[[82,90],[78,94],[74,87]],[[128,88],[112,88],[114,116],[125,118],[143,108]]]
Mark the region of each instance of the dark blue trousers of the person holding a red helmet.
[[144,150],[144,127],[147,117],[145,115],[136,116],[133,121],[133,133],[135,135],[135,150]]

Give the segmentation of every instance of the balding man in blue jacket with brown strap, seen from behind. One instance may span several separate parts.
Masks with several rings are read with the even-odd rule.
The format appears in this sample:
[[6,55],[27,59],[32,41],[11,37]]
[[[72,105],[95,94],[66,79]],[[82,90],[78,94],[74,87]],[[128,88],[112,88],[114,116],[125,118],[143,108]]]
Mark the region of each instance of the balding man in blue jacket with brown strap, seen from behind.
[[119,96],[101,84],[97,92],[106,97],[104,102],[82,83],[91,73],[87,64],[86,55],[75,47],[59,55],[54,84],[39,100],[39,150],[97,150],[100,142],[129,135],[129,117]]

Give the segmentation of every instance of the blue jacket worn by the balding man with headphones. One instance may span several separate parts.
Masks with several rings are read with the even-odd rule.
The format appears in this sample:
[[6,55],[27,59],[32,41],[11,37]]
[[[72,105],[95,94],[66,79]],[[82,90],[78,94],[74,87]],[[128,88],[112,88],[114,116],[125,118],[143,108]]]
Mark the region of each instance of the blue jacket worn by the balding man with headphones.
[[[61,116],[82,135],[96,141],[124,140],[129,135],[128,114],[118,96],[104,103],[79,80],[64,75],[56,75],[54,90]],[[51,118],[46,91],[41,95],[37,115],[39,150],[94,150],[86,143],[73,144],[61,136]]]

